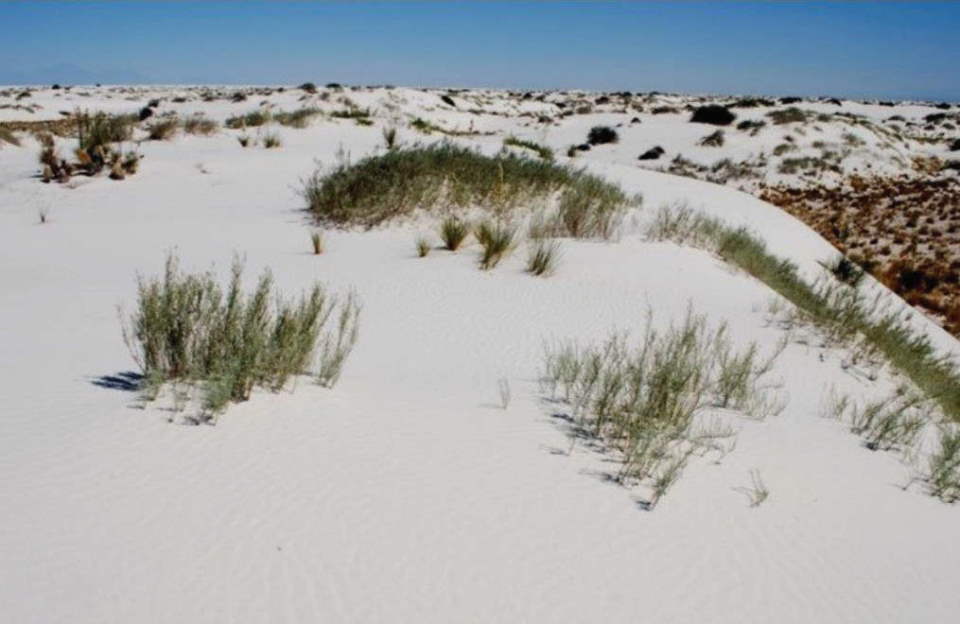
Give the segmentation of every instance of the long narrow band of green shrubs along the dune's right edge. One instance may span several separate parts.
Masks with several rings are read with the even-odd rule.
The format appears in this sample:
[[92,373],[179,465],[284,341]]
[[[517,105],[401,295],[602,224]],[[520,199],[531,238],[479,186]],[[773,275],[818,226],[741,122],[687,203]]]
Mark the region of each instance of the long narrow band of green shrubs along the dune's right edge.
[[810,284],[796,265],[778,258],[744,228],[694,213],[661,210],[648,228],[655,240],[674,240],[717,253],[726,262],[765,283],[795,306],[797,319],[816,325],[828,341],[876,354],[960,423],[960,370],[937,354],[929,338],[913,330],[900,312],[885,312],[858,290],[829,283]]

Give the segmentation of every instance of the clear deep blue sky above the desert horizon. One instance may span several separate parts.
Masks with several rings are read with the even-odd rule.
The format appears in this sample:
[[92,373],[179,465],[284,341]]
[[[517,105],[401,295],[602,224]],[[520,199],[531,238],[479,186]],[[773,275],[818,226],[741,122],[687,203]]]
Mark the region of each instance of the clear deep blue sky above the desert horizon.
[[4,2],[0,83],[960,100],[958,2]]

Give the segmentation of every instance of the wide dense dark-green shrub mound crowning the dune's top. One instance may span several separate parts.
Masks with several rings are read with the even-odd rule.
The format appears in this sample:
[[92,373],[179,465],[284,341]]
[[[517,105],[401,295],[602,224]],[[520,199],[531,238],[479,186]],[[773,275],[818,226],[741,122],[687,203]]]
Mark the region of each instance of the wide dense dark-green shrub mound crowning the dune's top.
[[[639,198],[618,186],[543,160],[437,143],[390,150],[304,181],[303,196],[318,221],[374,227],[438,206],[484,208],[505,214],[531,200],[557,198],[558,211],[576,225],[571,236],[608,236]],[[582,213],[582,214],[581,214]]]

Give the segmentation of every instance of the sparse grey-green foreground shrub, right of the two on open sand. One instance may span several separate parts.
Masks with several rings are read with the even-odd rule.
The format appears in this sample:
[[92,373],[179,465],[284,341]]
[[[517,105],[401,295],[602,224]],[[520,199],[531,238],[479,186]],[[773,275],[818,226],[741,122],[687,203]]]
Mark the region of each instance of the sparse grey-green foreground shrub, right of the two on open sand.
[[680,324],[662,332],[648,321],[636,345],[614,334],[600,345],[548,346],[541,380],[553,400],[569,405],[576,425],[571,434],[602,441],[621,462],[615,478],[648,485],[653,508],[693,453],[733,435],[698,429],[698,414],[726,404],[762,415],[768,400],[760,380],[774,357],[761,361],[753,345],[736,350],[725,326],[711,328],[706,317],[688,310]]

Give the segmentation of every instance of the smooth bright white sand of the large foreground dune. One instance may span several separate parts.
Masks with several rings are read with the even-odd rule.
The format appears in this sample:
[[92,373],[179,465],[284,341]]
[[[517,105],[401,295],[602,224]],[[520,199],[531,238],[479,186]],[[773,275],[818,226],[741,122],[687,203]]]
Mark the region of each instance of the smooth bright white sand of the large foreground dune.
[[[246,110],[243,108],[242,110]],[[694,461],[654,512],[603,457],[567,455],[538,399],[543,340],[599,339],[689,303],[772,348],[769,292],[709,255],[627,233],[565,242],[558,274],[523,252],[413,254],[415,226],[332,233],[309,255],[296,181],[379,127],[146,143],[142,172],[75,189],[0,151],[0,614],[10,622],[945,622],[960,609],[957,509],[898,487],[909,469],[820,416],[827,388],[879,395],[840,353],[792,344],[788,399],[735,421],[719,464]],[[579,130],[577,131],[579,133]],[[405,139],[409,136],[405,135]],[[565,140],[565,139],[564,139]],[[477,139],[485,149],[499,138]],[[636,146],[639,149],[639,146]],[[209,173],[197,167],[202,163]],[[746,195],[591,159],[642,191],[746,222],[816,270],[830,247]],[[52,222],[36,223],[39,206]],[[258,394],[216,427],[94,382],[130,370],[116,305],[176,248],[192,269],[273,269],[286,292],[355,288],[361,340],[340,384]],[[949,338],[930,326],[936,340]],[[823,361],[821,361],[823,356]],[[510,380],[508,409],[495,406]],[[757,509],[733,488],[757,468]]]

